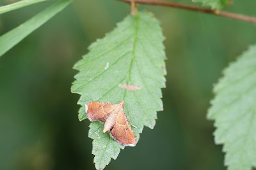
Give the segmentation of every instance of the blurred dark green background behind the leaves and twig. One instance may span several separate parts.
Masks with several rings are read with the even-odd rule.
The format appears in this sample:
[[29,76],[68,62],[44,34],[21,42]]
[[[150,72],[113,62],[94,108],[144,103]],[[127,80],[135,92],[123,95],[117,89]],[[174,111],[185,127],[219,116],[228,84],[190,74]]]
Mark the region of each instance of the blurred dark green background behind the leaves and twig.
[[[14,1],[0,0],[0,5]],[[189,0],[178,1],[192,4]],[[0,35],[52,1],[0,15]],[[225,10],[256,15],[256,1]],[[206,120],[221,71],[256,41],[256,26],[203,13],[140,5],[155,13],[166,40],[164,111],[106,169],[225,169]],[[115,0],[76,0],[0,58],[0,169],[94,169],[89,121],[70,93],[72,66],[129,14]]]

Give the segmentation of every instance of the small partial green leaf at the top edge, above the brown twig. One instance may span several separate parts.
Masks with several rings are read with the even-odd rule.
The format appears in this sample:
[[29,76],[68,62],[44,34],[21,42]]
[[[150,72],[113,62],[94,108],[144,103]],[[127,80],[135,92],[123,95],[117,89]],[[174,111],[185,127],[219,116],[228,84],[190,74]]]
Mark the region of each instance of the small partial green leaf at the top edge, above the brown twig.
[[203,6],[209,6],[212,9],[220,9],[232,4],[233,0],[194,0],[195,3],[202,3]]

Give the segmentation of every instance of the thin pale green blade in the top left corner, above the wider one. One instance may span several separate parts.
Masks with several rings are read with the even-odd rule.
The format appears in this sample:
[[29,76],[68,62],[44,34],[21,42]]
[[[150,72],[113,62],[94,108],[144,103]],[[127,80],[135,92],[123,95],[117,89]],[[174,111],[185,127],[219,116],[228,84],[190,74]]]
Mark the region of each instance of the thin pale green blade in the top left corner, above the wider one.
[[24,6],[28,6],[30,4],[40,3],[42,1],[48,1],[48,0],[23,0],[23,1],[19,1],[17,3],[8,4],[6,6],[1,6],[0,7],[0,14],[5,13],[5,12],[10,12],[12,10],[17,10],[17,9],[22,8]]

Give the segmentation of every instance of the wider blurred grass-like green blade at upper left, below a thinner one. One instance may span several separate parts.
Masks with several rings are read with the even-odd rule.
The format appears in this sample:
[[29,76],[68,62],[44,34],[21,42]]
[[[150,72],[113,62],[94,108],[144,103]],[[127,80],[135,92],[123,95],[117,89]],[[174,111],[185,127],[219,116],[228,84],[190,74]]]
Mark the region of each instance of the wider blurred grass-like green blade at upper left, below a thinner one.
[[65,8],[71,1],[72,0],[60,0],[57,3],[49,6],[49,8],[43,12],[40,12],[31,19],[27,20],[20,26],[15,27],[8,33],[0,36],[0,56],[12,49],[13,46],[35,31],[35,29],[42,26],[42,24],[51,19],[51,17],[53,17],[56,13],[63,10],[63,8]]

